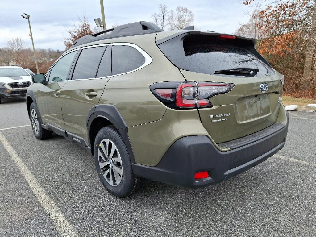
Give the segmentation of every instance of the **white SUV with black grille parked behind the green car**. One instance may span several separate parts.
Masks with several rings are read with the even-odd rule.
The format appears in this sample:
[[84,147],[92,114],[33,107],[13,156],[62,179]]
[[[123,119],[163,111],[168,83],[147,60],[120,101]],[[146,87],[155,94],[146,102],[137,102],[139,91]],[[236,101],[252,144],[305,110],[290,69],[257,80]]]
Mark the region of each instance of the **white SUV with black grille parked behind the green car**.
[[18,66],[0,66],[0,104],[3,98],[25,96],[31,76]]

